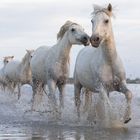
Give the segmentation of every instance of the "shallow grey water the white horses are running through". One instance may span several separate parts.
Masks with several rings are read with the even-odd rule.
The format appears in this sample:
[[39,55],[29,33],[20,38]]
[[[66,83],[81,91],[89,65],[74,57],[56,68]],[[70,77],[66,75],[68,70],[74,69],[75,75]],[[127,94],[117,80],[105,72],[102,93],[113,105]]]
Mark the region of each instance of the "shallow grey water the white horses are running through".
[[[65,97],[62,120],[57,122],[48,113],[26,112],[31,105],[31,87],[22,87],[22,97],[19,101],[15,95],[1,91],[0,140],[139,140],[140,85],[128,86],[133,92],[132,120],[125,125],[117,122],[110,128],[102,127],[100,123],[102,118],[98,118],[99,122],[94,125],[88,124],[87,119],[85,119],[87,116],[84,116],[84,113],[81,122],[77,123],[73,105],[73,87],[71,85],[68,85],[66,89],[68,93]],[[122,109],[124,105],[123,95],[112,93],[110,99],[115,112]],[[46,97],[43,100],[45,102]],[[43,105],[46,106],[47,104],[44,103]],[[98,105],[98,102],[96,105]],[[120,112],[123,112],[123,109]],[[117,121],[122,115],[120,112],[115,114]]]

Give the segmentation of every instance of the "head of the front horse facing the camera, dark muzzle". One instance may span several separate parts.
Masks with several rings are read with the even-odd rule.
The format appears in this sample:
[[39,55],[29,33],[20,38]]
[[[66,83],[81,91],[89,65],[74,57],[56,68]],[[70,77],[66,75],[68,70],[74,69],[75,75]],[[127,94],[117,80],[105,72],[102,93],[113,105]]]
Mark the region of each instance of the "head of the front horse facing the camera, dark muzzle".
[[92,12],[92,36],[90,42],[93,47],[98,47],[101,42],[107,40],[112,35],[112,5],[109,4],[107,8],[94,5],[94,12]]

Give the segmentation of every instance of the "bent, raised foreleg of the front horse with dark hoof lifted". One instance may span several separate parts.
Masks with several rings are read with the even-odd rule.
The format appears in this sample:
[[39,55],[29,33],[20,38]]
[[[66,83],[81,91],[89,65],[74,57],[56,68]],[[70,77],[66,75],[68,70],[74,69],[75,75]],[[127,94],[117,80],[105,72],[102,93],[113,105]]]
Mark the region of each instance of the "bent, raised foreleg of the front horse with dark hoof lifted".
[[126,84],[120,85],[119,92],[122,92],[127,100],[127,108],[124,115],[124,123],[128,123],[131,120],[130,116],[131,116],[132,92],[126,87]]

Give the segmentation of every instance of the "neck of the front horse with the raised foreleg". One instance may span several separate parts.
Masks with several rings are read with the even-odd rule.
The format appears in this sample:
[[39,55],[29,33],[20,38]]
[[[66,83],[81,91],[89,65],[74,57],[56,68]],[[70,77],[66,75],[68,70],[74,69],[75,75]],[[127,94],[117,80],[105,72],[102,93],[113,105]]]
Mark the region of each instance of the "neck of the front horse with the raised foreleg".
[[107,63],[113,65],[117,58],[113,32],[109,38],[102,42],[100,49],[103,53],[104,60],[106,60]]

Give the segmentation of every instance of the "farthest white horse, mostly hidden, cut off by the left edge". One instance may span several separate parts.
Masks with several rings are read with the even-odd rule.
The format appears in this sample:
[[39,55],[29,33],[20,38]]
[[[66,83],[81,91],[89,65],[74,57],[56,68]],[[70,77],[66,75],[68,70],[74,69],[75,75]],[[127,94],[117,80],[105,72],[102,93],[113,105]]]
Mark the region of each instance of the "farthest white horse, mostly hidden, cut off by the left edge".
[[[5,56],[3,58],[3,67],[0,69],[0,86],[5,90],[5,87],[9,87],[8,83],[7,83],[7,79],[5,77],[5,74],[4,74],[4,69],[5,69],[5,66],[10,62],[12,61],[14,58],[14,56]],[[10,88],[10,87],[9,87]]]

